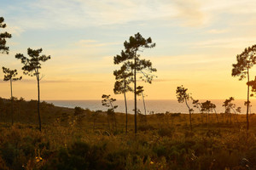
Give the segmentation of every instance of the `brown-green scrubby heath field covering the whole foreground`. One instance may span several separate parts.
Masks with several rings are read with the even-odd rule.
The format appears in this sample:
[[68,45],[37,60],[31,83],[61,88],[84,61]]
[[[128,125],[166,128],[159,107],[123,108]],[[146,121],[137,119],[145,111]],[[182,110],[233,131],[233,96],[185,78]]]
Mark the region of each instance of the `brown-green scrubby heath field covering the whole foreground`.
[[248,133],[245,115],[139,115],[135,135],[132,115],[125,134],[125,114],[43,106],[42,132],[32,110],[0,117],[0,169],[256,169],[254,115]]

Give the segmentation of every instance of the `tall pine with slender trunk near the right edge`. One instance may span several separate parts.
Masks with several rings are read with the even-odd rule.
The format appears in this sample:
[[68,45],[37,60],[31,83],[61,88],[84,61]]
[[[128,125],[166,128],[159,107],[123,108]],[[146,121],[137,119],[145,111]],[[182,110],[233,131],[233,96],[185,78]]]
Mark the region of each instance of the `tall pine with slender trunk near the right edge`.
[[250,82],[249,70],[256,64],[256,45],[245,48],[245,50],[236,55],[236,64],[233,64],[232,77],[239,77],[239,80],[247,77],[247,131],[249,130],[249,98],[250,98]]

